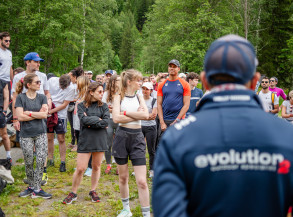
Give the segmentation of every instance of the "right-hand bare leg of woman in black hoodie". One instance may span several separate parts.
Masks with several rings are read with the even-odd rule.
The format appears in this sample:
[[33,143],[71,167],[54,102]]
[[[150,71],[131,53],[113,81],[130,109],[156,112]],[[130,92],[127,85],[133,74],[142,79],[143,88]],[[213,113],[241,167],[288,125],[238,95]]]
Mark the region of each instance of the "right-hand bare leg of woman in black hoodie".
[[92,153],[91,191],[96,190],[101,175],[101,164],[104,152]]

